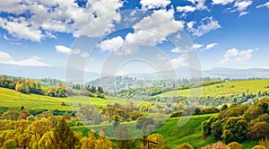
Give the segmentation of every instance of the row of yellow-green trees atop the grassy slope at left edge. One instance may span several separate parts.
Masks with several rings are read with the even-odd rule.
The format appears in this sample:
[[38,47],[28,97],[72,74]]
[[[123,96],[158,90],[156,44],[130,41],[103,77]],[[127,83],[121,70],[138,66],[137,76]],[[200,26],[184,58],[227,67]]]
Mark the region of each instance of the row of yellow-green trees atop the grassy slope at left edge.
[[67,92],[65,90],[64,83],[58,83],[56,88],[48,87],[45,90],[41,89],[41,85],[38,81],[31,79],[13,79],[8,77],[0,79],[0,87],[8,88],[22,93],[35,93],[42,94],[51,97],[66,97]]

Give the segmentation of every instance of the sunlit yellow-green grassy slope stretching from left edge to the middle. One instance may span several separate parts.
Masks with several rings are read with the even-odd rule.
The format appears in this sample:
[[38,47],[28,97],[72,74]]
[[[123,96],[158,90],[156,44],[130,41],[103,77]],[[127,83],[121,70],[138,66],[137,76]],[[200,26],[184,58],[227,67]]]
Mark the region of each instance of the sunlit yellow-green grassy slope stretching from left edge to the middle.
[[[93,104],[96,107],[105,107],[108,103],[126,103],[126,100],[118,99],[114,97],[108,97],[107,99],[90,98],[86,96],[72,96],[68,97],[73,102],[73,106],[78,108],[79,103],[83,105]],[[67,106],[61,106],[62,101]],[[143,101],[134,101],[135,105],[144,104]],[[0,108],[8,109],[20,109],[22,106],[28,110],[67,110],[71,111],[71,107],[68,106],[69,101],[67,98],[56,98],[43,96],[38,94],[25,94],[22,92],[15,92],[14,90],[0,87]]]

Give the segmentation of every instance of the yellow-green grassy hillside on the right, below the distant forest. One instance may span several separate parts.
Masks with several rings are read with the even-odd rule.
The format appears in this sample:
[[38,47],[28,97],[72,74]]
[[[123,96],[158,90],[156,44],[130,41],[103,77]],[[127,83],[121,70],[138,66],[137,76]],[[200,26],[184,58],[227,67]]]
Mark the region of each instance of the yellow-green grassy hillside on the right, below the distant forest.
[[247,80],[247,81],[235,81],[235,82],[227,82],[227,83],[218,83],[209,86],[204,86],[195,89],[188,89],[188,90],[179,90],[179,91],[171,91],[171,92],[164,92],[157,96],[162,97],[174,97],[174,96],[192,96],[189,95],[190,90],[193,92],[201,91],[201,96],[230,96],[230,95],[237,95],[242,93],[253,93],[257,94],[258,92],[269,92],[269,79],[261,79],[261,80]]

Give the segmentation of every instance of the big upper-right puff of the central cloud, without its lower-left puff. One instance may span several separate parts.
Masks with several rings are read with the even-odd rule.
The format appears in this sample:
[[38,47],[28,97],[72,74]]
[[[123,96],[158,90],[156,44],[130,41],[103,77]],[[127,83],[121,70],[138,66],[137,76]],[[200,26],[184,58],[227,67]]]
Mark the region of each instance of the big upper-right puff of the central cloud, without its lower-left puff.
[[[164,26],[165,25],[165,26]],[[169,34],[182,31],[184,22],[174,19],[174,10],[154,11],[134,24],[134,33],[126,35],[126,43],[143,42],[150,45],[161,43]]]

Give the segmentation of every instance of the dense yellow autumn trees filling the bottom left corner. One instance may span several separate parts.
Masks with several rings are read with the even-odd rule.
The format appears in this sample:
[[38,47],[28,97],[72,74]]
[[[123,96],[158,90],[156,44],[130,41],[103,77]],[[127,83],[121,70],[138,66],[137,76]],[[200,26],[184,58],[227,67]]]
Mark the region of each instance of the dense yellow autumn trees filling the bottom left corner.
[[[11,125],[13,124],[13,125]],[[57,118],[56,123],[48,118],[40,120],[1,120],[0,146],[4,149],[15,148],[93,148],[110,149],[115,145],[100,130],[98,136],[89,132],[72,130],[65,118]]]

